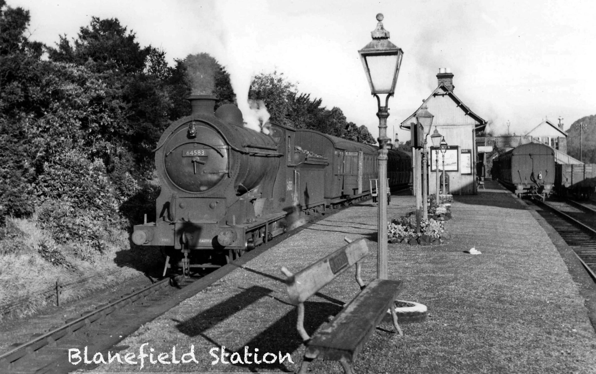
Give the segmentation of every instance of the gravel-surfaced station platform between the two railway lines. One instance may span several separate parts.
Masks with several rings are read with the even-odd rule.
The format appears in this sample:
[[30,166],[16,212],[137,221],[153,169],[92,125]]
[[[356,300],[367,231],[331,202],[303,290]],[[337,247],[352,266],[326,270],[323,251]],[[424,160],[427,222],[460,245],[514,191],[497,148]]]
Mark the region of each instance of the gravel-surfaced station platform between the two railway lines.
[[[413,196],[393,196],[388,217],[413,210]],[[451,211],[448,243],[389,244],[389,278],[405,284],[399,298],[426,305],[429,315],[425,322],[403,324],[403,336],[377,328],[357,357],[355,372],[595,373],[596,334],[581,287],[532,211],[491,180],[478,195],[456,195]],[[119,345],[122,356],[136,356],[147,343],[145,353],[153,349],[154,361],[158,353],[171,354],[174,346],[180,359],[193,345],[196,362],[145,359],[142,369],[113,362],[92,372],[297,372],[305,348],[280,267],[297,272],[342,247],[345,236],[365,238],[371,253],[362,278],[370,282],[376,276],[376,232],[377,206],[372,202],[333,214],[238,267]],[[465,252],[473,247],[482,254]],[[358,291],[350,269],[309,298],[309,334]],[[221,363],[222,346],[241,357],[245,349],[258,349],[259,359],[265,353],[289,353],[293,363]],[[310,367],[312,373],[343,373],[335,361],[317,360]]]

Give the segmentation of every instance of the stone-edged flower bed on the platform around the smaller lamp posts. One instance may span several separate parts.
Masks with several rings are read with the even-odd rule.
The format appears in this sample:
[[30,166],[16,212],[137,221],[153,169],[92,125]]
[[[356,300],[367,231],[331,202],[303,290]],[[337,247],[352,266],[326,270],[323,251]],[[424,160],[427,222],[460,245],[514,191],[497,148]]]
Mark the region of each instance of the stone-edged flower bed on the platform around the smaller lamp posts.
[[451,235],[445,231],[445,221],[449,219],[451,219],[451,204],[448,203],[431,205],[429,219],[420,221],[420,233],[416,232],[415,213],[392,219],[387,227],[389,242],[410,245],[441,244],[451,239]]

